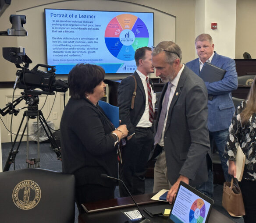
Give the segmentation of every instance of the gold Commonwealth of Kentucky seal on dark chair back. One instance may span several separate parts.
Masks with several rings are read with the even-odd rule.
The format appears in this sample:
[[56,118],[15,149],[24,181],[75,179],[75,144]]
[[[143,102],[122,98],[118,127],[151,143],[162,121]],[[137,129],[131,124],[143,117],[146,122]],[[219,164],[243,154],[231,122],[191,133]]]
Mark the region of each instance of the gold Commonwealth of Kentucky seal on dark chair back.
[[34,208],[39,203],[40,198],[41,189],[34,181],[21,181],[12,191],[12,200],[14,204],[22,210]]

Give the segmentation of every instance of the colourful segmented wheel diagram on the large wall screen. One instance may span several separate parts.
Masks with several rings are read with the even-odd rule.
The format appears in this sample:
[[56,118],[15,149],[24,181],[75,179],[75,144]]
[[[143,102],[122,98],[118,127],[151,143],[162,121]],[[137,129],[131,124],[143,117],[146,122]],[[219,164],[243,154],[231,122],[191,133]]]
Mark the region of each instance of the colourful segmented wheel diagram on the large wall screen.
[[108,23],[105,43],[109,52],[117,59],[134,60],[135,50],[148,46],[149,31],[137,16],[120,14]]

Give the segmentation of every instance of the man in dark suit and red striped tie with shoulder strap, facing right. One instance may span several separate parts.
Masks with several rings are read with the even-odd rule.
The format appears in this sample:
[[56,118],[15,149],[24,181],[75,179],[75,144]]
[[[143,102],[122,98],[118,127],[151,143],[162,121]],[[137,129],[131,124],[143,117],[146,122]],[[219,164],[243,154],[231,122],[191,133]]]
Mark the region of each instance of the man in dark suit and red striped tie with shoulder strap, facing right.
[[[135,51],[137,70],[121,81],[117,92],[121,123],[126,124],[129,131],[126,145],[121,150],[119,178],[132,195],[145,193],[146,166],[153,146],[152,124],[156,99],[152,81],[148,77],[154,72],[151,53],[151,48],[146,46]],[[123,184],[119,184],[119,191],[121,197],[128,196]]]

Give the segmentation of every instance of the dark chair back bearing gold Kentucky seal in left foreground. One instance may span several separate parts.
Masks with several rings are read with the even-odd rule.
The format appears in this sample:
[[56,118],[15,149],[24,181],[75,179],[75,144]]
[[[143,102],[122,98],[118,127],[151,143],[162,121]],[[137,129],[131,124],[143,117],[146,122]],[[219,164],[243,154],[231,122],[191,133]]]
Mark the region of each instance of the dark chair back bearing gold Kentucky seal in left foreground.
[[1,222],[74,223],[75,177],[37,168],[0,173]]

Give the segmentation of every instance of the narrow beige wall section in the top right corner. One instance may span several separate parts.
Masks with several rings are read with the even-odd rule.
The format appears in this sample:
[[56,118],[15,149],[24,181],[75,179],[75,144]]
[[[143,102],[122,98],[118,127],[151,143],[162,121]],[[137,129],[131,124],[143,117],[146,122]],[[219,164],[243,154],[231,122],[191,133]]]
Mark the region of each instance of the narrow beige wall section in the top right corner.
[[256,58],[256,1],[237,0],[235,58],[248,52]]

